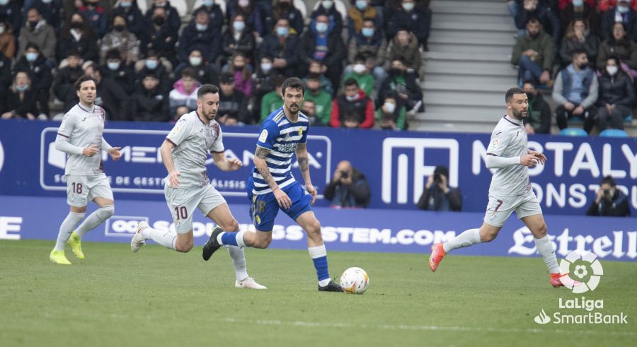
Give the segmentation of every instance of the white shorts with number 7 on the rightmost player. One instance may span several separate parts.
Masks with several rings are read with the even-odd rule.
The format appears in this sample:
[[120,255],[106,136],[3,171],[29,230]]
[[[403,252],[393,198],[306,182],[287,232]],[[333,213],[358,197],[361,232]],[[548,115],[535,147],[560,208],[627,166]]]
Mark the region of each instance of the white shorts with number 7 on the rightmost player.
[[532,190],[525,195],[506,196],[503,198],[489,195],[489,204],[484,215],[484,221],[489,225],[501,227],[513,211],[515,211],[518,219],[542,213],[537,196]]

